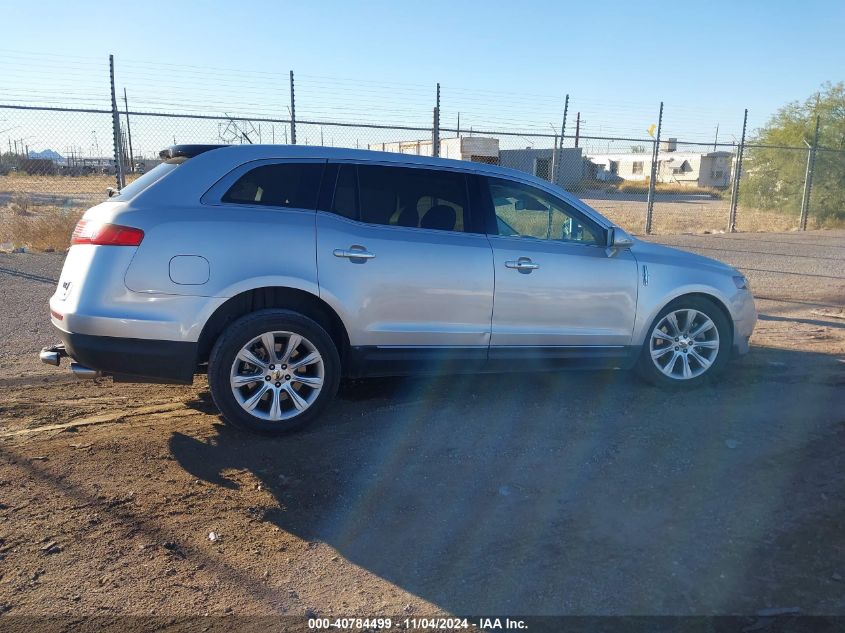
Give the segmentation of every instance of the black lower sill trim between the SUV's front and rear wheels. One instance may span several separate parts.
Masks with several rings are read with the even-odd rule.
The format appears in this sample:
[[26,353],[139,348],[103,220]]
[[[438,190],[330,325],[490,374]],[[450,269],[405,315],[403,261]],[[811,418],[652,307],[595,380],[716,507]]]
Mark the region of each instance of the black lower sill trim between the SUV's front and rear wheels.
[[466,374],[502,371],[566,369],[630,369],[639,355],[637,346],[584,347],[377,347],[350,349],[346,374],[407,376]]

